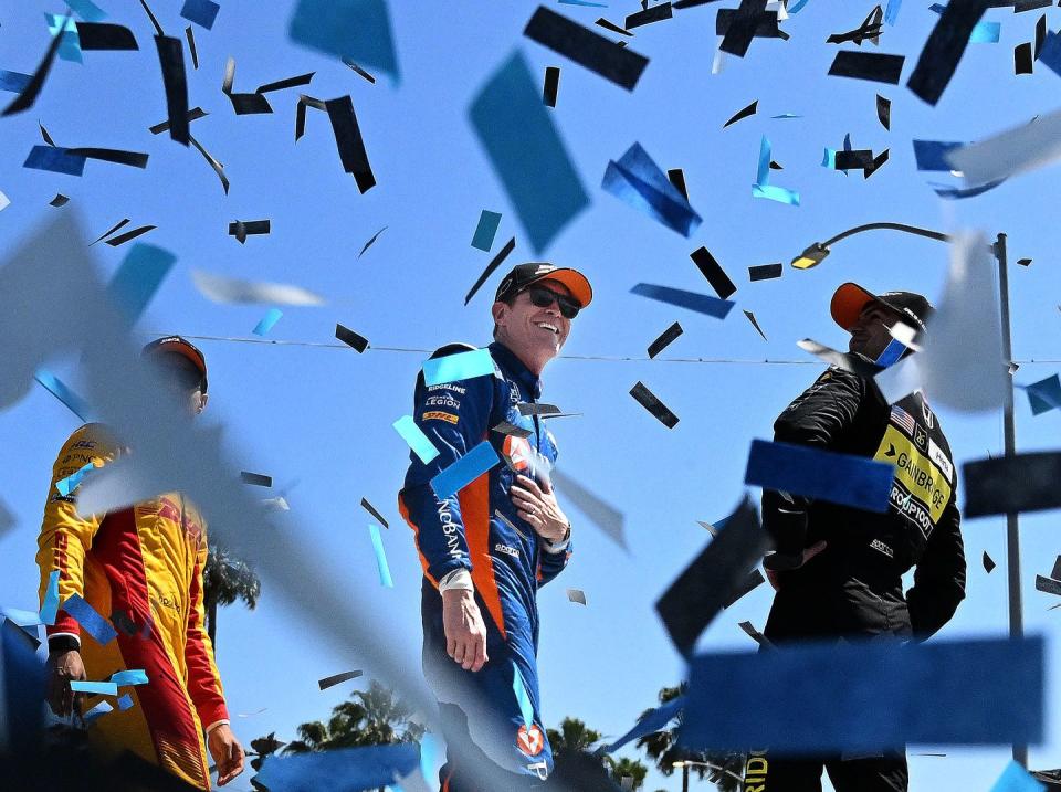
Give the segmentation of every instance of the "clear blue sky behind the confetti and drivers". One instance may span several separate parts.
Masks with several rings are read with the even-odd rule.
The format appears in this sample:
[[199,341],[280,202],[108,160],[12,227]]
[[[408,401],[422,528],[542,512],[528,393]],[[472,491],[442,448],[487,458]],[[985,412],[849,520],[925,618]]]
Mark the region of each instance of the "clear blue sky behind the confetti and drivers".
[[[861,23],[871,2],[811,0],[784,24],[791,40],[756,40],[742,61],[729,57],[712,75],[715,6],[676,12],[674,19],[640,29],[630,46],[651,59],[640,84],[628,93],[522,36],[535,2],[437,4],[398,0],[390,4],[402,80],[378,75],[370,85],[334,59],[287,40],[294,3],[225,0],[212,31],[197,30],[200,68],[189,65],[191,106],[210,116],[192,134],[224,166],[228,196],[192,150],[147,127],[166,116],[151,29],[138,4],[104,3],[112,20],[129,27],[136,53],[90,52],[78,65],[57,61],[34,107],[0,125],[0,190],[11,205],[0,212],[0,255],[56,211],[76,208],[93,234],[119,219],[156,224],[144,242],[172,251],[177,266],[135,328],[146,341],[155,332],[246,338],[269,306],[237,307],[206,300],[190,271],[249,279],[297,283],[326,295],[318,308],[284,308],[273,340],[334,342],[335,323],[369,338],[365,355],[350,349],[203,340],[210,365],[208,420],[223,423],[240,450],[242,469],[272,475],[292,510],[280,521],[325,557],[307,587],[356,590],[368,605],[378,638],[392,645],[410,667],[419,663],[419,563],[411,536],[395,507],[407,450],[390,427],[410,410],[416,351],[447,341],[489,340],[491,279],[465,307],[464,294],[492,254],[470,246],[482,209],[502,212],[496,252],[517,237],[513,262],[547,257],[577,266],[596,291],[593,306],[577,321],[565,348],[571,356],[546,370],[544,400],[579,418],[554,425],[566,472],[621,509],[629,552],[598,532],[571,507],[576,556],[570,568],[539,596],[543,633],[539,666],[546,720],[565,715],[619,735],[656,690],[679,682],[682,663],[658,622],[653,603],[707,541],[697,519],[728,514],[742,497],[747,447],[769,437],[774,418],[817,376],[820,366],[796,348],[803,337],[842,347],[828,316],[837,285],[855,279],[872,289],[904,288],[938,296],[947,263],[944,245],[886,232],[837,246],[817,270],[786,267],[780,279],[748,283],[747,267],[787,262],[810,242],[863,222],[891,220],[943,231],[975,228],[1009,234],[1015,357],[1025,363],[1018,382],[1058,370],[1053,329],[1059,321],[1058,276],[1052,253],[1057,170],[1011,180],[980,198],[943,202],[917,173],[912,138],[974,140],[1055,109],[1059,77],[1037,64],[1033,76],[1012,74],[1012,47],[1033,36],[1039,12],[1015,15],[992,10],[1002,22],[999,44],[971,45],[936,107],[904,85],[887,86],[826,75],[834,45],[826,38]],[[186,22],[178,0],[153,8],[170,34]],[[621,21],[638,3],[612,0],[608,9],[556,6],[591,25],[603,13]],[[32,0],[9,3],[0,30],[0,68],[32,72],[48,45],[44,12],[61,4]],[[1051,27],[1058,11],[1049,11]],[[908,76],[937,17],[907,2],[894,28],[885,28],[878,51],[905,54]],[[534,256],[498,180],[466,119],[479,86],[519,47],[536,74],[561,66],[557,107],[560,136],[592,198],[542,256]],[[863,44],[863,49],[872,45]],[[844,45],[843,49],[852,49]],[[361,196],[345,175],[323,114],[312,113],[306,136],[294,142],[297,92],[273,94],[274,115],[232,114],[220,85],[224,61],[237,61],[235,89],[316,71],[305,91],[321,98],[351,94],[378,187]],[[876,120],[875,94],[892,99],[892,129]],[[723,123],[753,99],[759,113],[723,129]],[[794,113],[802,118],[773,120]],[[38,120],[61,146],[127,148],[150,154],[146,170],[90,161],[82,178],[23,169],[41,142]],[[890,161],[870,180],[820,167],[823,147],[840,148],[851,133],[855,148],[891,149]],[[760,135],[784,167],[773,183],[798,190],[799,208],[753,200]],[[692,204],[704,222],[684,239],[603,193],[609,159],[634,141],[662,168],[685,171]],[[942,177],[942,178],[938,178]],[[954,180],[956,181],[956,180]],[[48,202],[56,192],[66,209]],[[272,220],[269,236],[239,245],[228,236],[233,220]],[[387,231],[363,258],[365,241]],[[132,228],[132,226],[130,226]],[[710,292],[689,253],[705,245],[737,284],[737,310],[725,321],[650,303],[629,293],[639,282]],[[113,273],[128,247],[93,251],[99,272]],[[46,309],[46,306],[42,306]],[[754,310],[768,341],[740,314]],[[644,348],[675,319],[685,334],[662,358],[735,359],[736,363],[647,361]],[[56,317],[62,321],[62,317]],[[584,357],[606,359],[586,360]],[[620,358],[637,358],[627,361]],[[764,365],[764,360],[798,361]],[[75,361],[53,368],[77,382]],[[672,431],[629,395],[638,380],[677,415]],[[998,414],[941,411],[958,461],[998,453]],[[1020,450],[1055,447],[1057,413],[1031,418],[1018,394]],[[35,606],[33,563],[54,455],[78,421],[42,389],[0,413],[0,441],[13,450],[0,498],[17,517],[0,536],[3,574],[0,602]],[[371,500],[390,520],[384,531],[395,589],[378,587],[367,525],[358,506]],[[1053,515],[1021,519],[1025,619],[1028,632],[1050,638],[1057,613],[1034,591],[1034,573],[1049,573],[1059,546]],[[969,558],[968,599],[941,637],[1001,635],[1007,630],[1005,525],[1000,519],[965,525]],[[980,567],[986,550],[999,568]],[[586,591],[588,606],[569,603],[564,589]],[[702,638],[702,648],[754,648],[736,624],[761,627],[769,608],[765,587],[722,614]],[[370,614],[370,616],[369,616]],[[263,581],[254,612],[233,606],[219,625],[219,664],[237,732],[244,741],[323,718],[349,685],[321,693],[316,680],[359,667],[358,647],[336,654]],[[1000,669],[1001,670],[1001,669]],[[1052,680],[1051,680],[1052,682]],[[1048,741],[1033,748],[1033,767],[1061,764],[1057,742],[1058,696],[1048,687]],[[912,789],[988,789],[1008,760],[1008,749],[943,750],[945,759],[911,757]],[[675,789],[677,781],[650,779],[647,789]],[[704,784],[704,788],[707,785]],[[244,780],[237,789],[248,789]],[[694,783],[694,789],[695,789]]]

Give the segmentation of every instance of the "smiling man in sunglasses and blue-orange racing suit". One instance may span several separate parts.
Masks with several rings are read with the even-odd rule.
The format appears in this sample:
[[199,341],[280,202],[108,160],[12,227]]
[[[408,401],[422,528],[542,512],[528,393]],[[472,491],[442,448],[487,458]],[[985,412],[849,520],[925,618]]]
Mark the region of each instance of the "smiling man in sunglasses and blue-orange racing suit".
[[[444,792],[485,792],[472,780],[484,778],[492,791],[528,789],[553,769],[536,596],[567,564],[571,526],[549,484],[556,443],[534,408],[542,370],[592,296],[576,270],[521,264],[491,308],[493,376],[417,381],[413,416],[439,455],[429,463],[411,455],[399,508],[423,566],[423,668],[445,725]],[[449,345],[432,357],[469,349]],[[504,464],[439,498],[431,478],[483,440]]]

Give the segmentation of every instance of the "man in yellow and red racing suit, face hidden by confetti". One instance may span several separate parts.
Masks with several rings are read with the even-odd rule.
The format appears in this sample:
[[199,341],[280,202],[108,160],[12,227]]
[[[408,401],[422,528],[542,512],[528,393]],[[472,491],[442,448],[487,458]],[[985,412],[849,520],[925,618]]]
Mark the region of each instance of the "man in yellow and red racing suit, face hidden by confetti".
[[[179,336],[145,347],[164,372],[174,398],[192,414],[207,403],[206,360]],[[199,789],[210,789],[207,749],[223,785],[243,771],[243,748],[229,727],[221,678],[203,624],[202,573],[206,522],[179,494],[167,494],[105,515],[80,515],[75,493],[57,483],[87,464],[102,467],[126,453],[101,424],[74,432],[52,471],[44,522],[38,540],[43,602],[53,572],[59,601],[80,594],[109,619],[117,637],[99,645],[82,635],[62,608],[48,627],[48,698],[61,716],[81,710],[80,679],[106,680],[143,669],[147,683],[123,687],[133,706],[94,721],[92,745],[104,754],[132,751]],[[206,735],[206,738],[204,738]]]

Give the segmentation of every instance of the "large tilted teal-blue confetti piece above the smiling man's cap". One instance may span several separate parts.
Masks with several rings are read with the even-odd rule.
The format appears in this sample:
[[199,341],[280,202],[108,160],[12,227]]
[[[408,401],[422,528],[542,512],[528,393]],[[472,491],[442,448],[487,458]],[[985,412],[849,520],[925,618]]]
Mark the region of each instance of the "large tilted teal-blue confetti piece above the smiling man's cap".
[[542,102],[542,86],[517,50],[469,107],[469,120],[535,253],[548,247],[589,196]]

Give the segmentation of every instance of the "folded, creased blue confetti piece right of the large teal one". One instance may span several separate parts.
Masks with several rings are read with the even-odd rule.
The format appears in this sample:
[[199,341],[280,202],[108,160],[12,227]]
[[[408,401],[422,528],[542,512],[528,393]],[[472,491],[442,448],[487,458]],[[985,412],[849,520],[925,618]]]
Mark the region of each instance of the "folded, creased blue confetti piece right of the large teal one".
[[703,222],[639,142],[608,162],[601,188],[686,239]]

